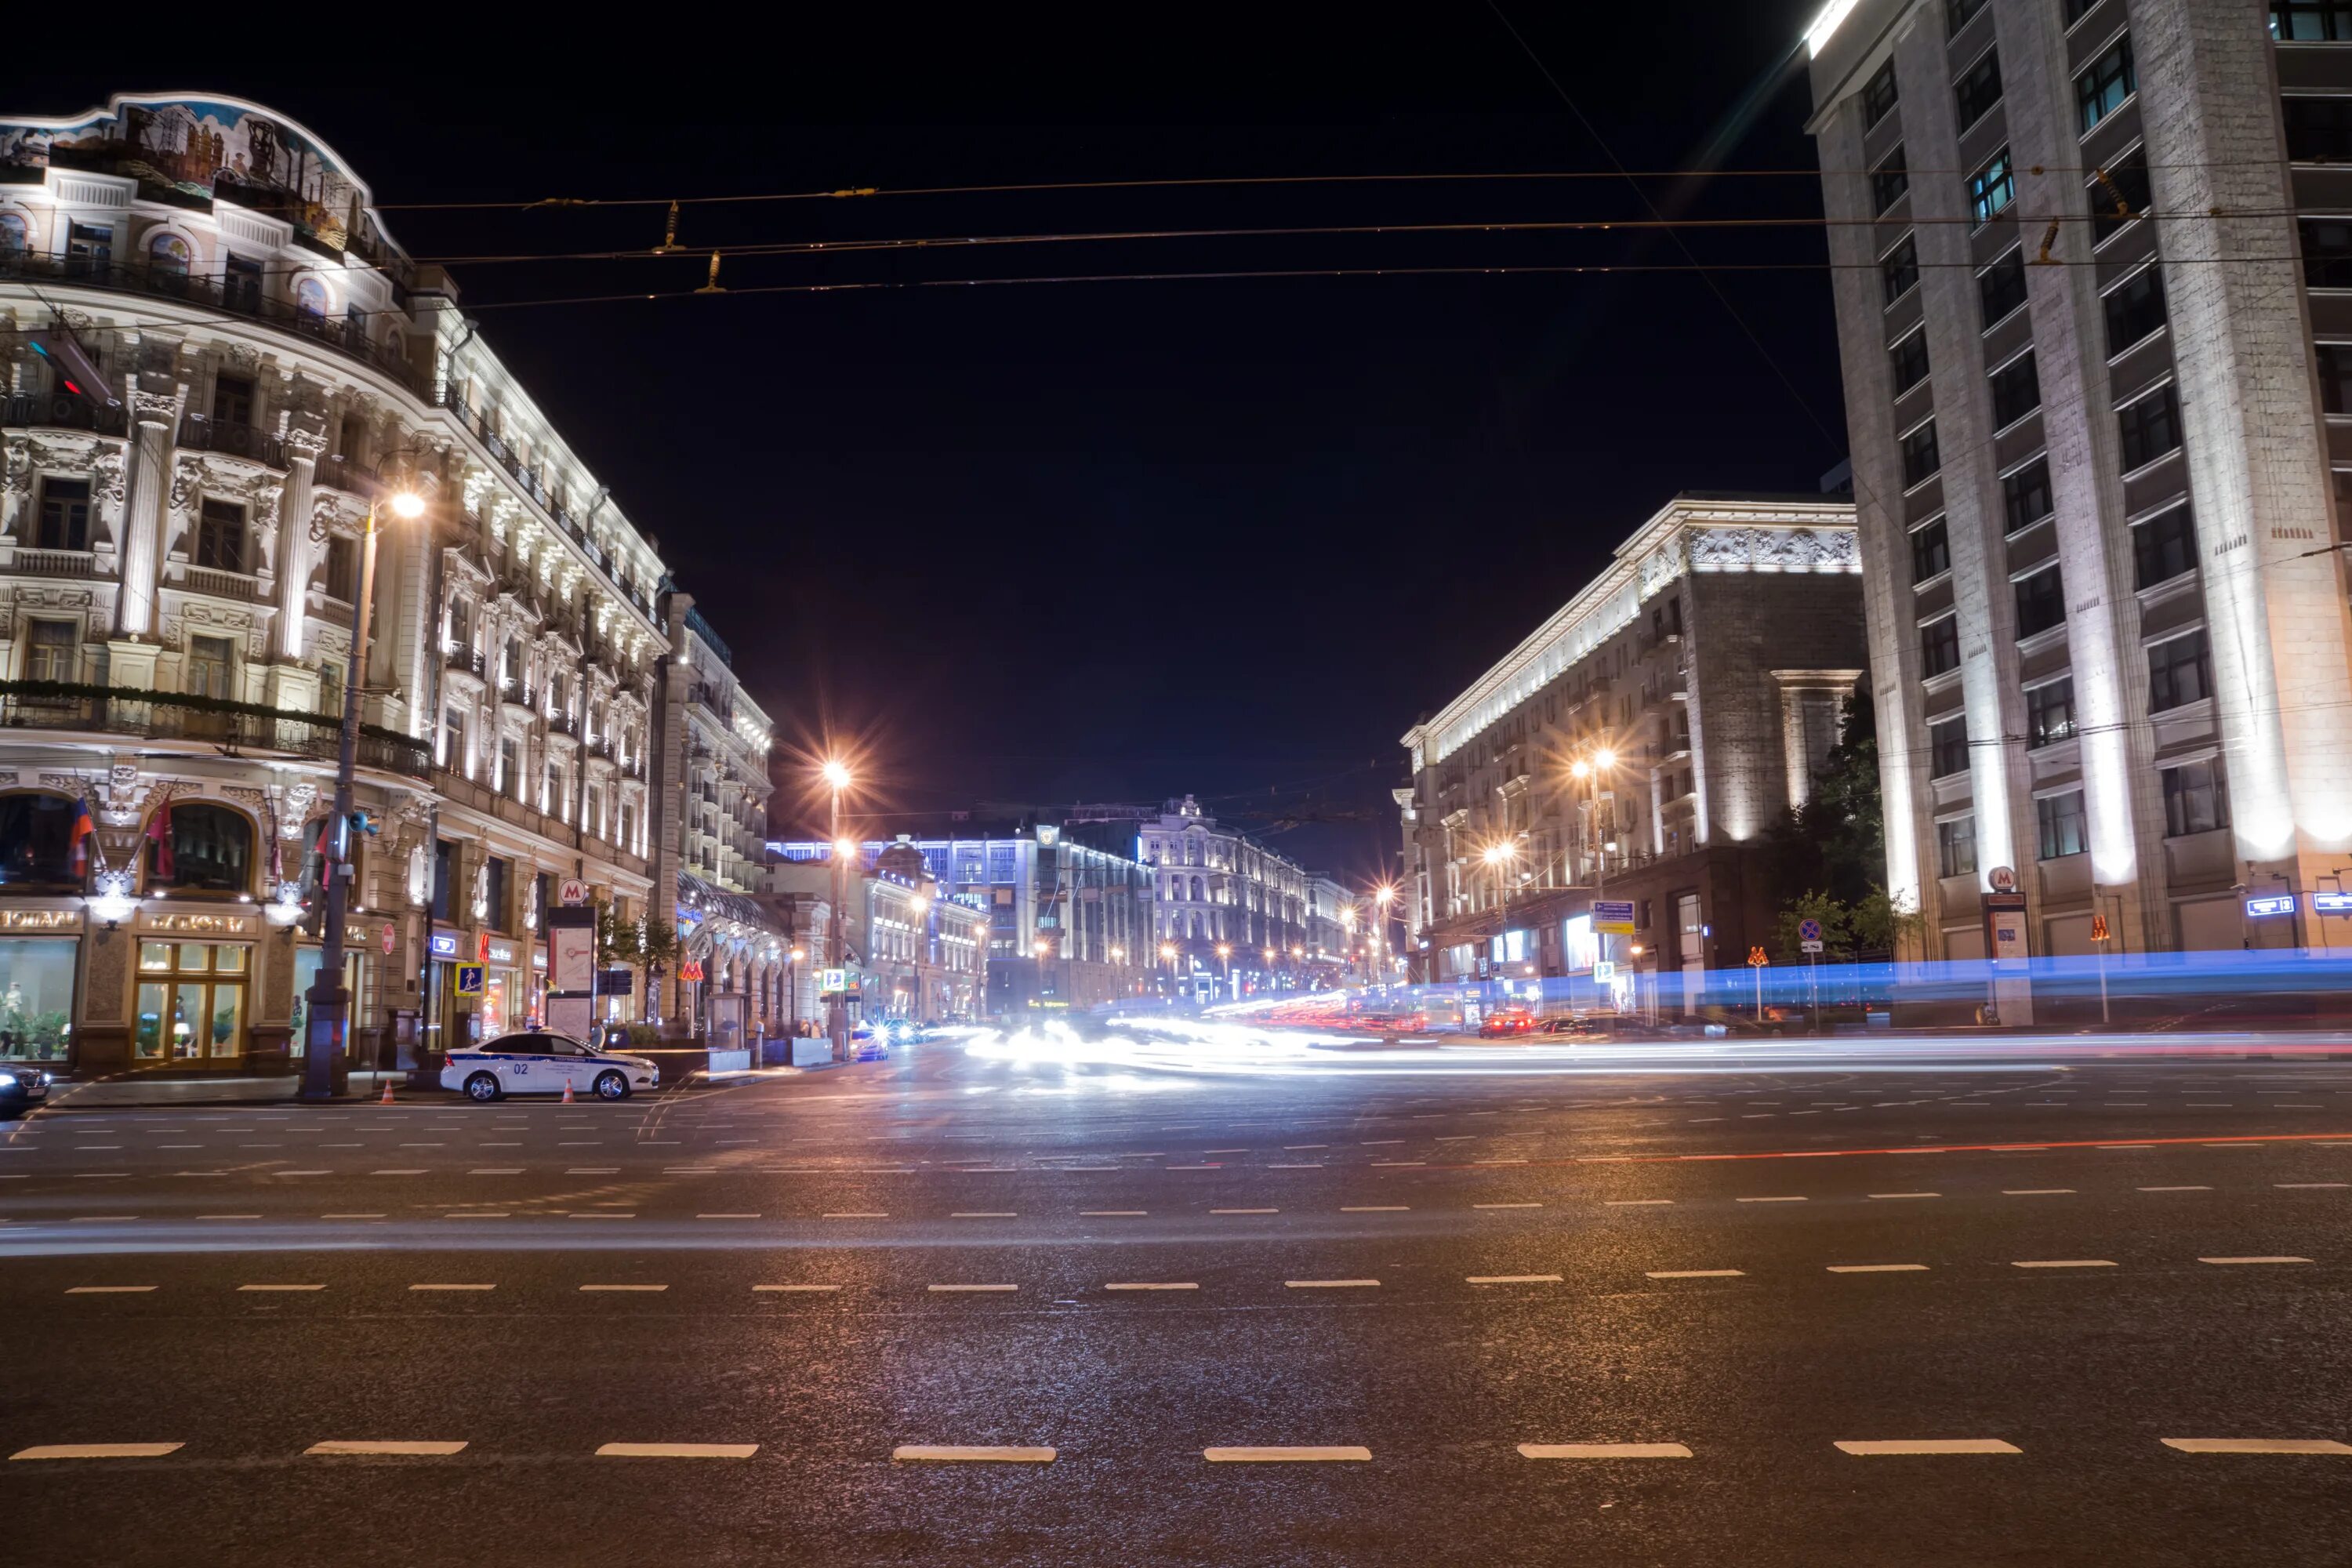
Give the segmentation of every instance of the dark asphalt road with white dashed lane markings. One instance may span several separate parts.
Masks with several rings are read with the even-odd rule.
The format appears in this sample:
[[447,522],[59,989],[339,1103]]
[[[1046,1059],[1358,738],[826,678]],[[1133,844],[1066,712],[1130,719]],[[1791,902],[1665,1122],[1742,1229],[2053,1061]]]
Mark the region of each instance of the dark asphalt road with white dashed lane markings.
[[2347,1220],[2324,1058],[931,1044],[626,1105],[66,1103],[0,1128],[0,1540],[2338,1563]]

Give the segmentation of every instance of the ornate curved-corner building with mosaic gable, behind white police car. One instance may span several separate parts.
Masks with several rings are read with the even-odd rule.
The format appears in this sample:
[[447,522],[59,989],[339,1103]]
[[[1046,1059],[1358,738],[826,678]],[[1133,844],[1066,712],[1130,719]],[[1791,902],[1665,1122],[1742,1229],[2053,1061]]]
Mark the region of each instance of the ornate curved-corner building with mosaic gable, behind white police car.
[[292,1065],[395,489],[426,510],[376,517],[358,1053],[532,1013],[557,879],[654,912],[661,562],[369,202],[235,99],[0,125],[0,1051]]

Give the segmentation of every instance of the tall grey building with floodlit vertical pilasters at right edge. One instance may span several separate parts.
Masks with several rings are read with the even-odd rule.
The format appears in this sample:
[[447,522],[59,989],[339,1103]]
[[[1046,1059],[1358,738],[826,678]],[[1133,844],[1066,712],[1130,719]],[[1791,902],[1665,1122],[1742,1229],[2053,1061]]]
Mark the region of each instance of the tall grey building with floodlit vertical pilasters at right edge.
[[1891,886],[1931,957],[2324,943],[2352,839],[2352,9],[1811,33]]

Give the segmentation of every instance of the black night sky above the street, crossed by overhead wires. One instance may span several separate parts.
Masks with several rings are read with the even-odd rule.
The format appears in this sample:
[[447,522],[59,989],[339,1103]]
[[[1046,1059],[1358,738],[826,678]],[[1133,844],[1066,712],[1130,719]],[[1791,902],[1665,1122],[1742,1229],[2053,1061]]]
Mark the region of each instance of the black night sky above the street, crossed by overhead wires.
[[[652,249],[663,209],[402,202],[1813,162],[1792,56],[1813,0],[1505,5],[1606,150],[1475,0],[847,9],[739,31],[680,5],[619,31],[595,7],[553,35],[456,12],[397,28],[360,12],[339,33],[313,12],[299,47],[183,12],[183,33],[12,73],[7,108],[73,113],[111,89],[268,103],[353,162],[416,256]],[[1811,179],[1644,190],[1677,219],[1818,216]],[[689,207],[680,242],[1644,216],[1618,179],[1223,186]],[[1682,242],[1710,263],[1823,256],[1804,226]],[[1684,256],[1625,230],[1152,237],[731,256],[722,282],[1541,263]],[[884,832],[887,813],[976,799],[1190,790],[1322,816],[1277,842],[1367,877],[1374,835],[1395,839],[1397,736],[1665,496],[1809,491],[1844,456],[1816,268],[1715,273],[1762,348],[1691,273],[489,308],[687,292],[706,268],[452,263],[734,646],[781,748],[856,738]]]

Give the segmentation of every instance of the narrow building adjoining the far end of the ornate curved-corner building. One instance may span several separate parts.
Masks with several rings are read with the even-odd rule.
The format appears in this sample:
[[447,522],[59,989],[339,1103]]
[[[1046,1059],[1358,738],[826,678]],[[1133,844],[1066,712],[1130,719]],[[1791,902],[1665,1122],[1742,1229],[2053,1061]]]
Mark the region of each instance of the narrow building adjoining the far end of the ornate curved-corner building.
[[734,654],[694,599],[661,597],[670,654],[656,701],[654,816],[675,875],[654,891],[684,931],[682,957],[701,966],[687,983],[663,976],[668,1013],[708,1025],[713,1039],[783,1034],[788,1018],[786,929],[755,896],[767,891],[767,799],[774,726],[734,675]]

